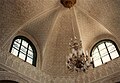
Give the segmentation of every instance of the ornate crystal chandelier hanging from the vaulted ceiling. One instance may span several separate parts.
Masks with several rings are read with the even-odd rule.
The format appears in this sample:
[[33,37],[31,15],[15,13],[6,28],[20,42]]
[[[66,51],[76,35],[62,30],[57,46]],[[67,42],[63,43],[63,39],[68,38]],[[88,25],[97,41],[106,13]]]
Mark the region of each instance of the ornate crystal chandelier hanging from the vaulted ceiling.
[[73,37],[71,38],[69,42],[70,53],[67,56],[66,66],[71,71],[86,72],[86,70],[88,70],[88,68],[90,67],[90,60],[88,57],[88,52],[86,51],[86,53],[84,53],[81,38],[78,39],[75,36],[76,33],[75,33],[72,20],[73,19],[71,15]]

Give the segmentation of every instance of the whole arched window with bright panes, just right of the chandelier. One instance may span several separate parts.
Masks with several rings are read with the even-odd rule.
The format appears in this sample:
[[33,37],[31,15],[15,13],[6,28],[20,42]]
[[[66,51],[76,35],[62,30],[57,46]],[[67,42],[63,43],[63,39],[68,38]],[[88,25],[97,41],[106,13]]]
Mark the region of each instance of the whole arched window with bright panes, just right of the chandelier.
[[108,61],[119,57],[120,53],[115,42],[102,40],[96,43],[91,50],[94,67],[100,66]]

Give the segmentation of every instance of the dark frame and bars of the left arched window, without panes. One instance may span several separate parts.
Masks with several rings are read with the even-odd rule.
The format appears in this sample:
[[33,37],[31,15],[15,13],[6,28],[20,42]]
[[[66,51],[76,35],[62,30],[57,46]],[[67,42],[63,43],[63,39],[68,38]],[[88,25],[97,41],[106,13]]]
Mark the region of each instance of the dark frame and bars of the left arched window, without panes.
[[[13,47],[13,45],[14,45],[14,42],[16,42],[15,40],[17,40],[17,39],[21,39],[21,42],[19,43],[19,44],[20,44],[19,49],[17,49],[18,54],[15,55],[15,56],[19,57],[19,53],[21,52],[21,51],[20,51],[20,50],[21,50],[21,47],[22,47],[22,46],[25,47],[24,45],[22,45],[22,41],[27,42],[27,43],[28,43],[28,46],[26,47],[26,49],[27,49],[27,51],[28,51],[28,50],[29,50],[29,46],[31,46],[32,51],[33,51],[32,65],[36,67],[37,51],[36,51],[36,48],[35,48],[34,44],[33,44],[27,37],[21,36],[21,35],[20,35],[20,36],[16,36],[16,37],[12,40],[12,44],[11,44],[11,47],[10,47],[10,51],[9,51],[9,52],[11,53],[12,48],[15,49],[15,47]],[[23,52],[21,52],[21,53],[23,53]],[[24,54],[24,53],[23,53],[23,54]],[[13,55],[14,55],[14,54],[13,54]],[[28,52],[26,52],[26,54],[24,54],[24,55],[25,55],[25,59],[22,59],[22,60],[24,60],[24,62],[27,62],[27,58],[29,57],[29,56],[28,56]],[[20,57],[19,57],[19,58],[20,58]],[[27,63],[31,64],[30,62],[27,62]]]

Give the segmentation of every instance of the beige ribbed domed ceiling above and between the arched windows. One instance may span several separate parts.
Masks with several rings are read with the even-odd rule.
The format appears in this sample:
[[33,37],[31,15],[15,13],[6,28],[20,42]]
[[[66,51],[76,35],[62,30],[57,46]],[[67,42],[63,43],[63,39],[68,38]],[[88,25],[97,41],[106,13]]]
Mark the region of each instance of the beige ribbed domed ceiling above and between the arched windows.
[[24,31],[38,44],[43,72],[73,75],[65,65],[72,28],[84,50],[102,35],[120,41],[119,10],[120,0],[76,0],[71,8],[64,7],[60,0],[1,0],[0,45],[4,47],[18,31]]

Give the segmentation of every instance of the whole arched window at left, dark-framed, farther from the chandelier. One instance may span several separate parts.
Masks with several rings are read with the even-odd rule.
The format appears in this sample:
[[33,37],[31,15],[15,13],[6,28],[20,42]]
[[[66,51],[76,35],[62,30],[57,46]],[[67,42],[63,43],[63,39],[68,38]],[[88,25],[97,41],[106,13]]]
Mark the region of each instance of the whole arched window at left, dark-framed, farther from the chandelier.
[[28,62],[36,66],[37,52],[33,43],[24,36],[17,36],[13,39],[10,52],[23,59],[25,62]]

